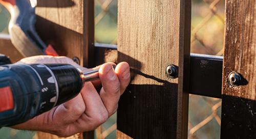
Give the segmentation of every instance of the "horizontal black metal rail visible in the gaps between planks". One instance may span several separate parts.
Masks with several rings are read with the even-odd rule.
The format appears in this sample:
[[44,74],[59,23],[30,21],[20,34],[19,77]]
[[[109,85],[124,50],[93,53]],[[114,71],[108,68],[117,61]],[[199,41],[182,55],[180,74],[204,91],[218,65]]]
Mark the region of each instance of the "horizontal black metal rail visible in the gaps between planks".
[[[117,50],[117,45],[95,43],[100,49]],[[103,58],[102,58],[103,59]],[[223,57],[190,53],[189,93],[221,98]]]

